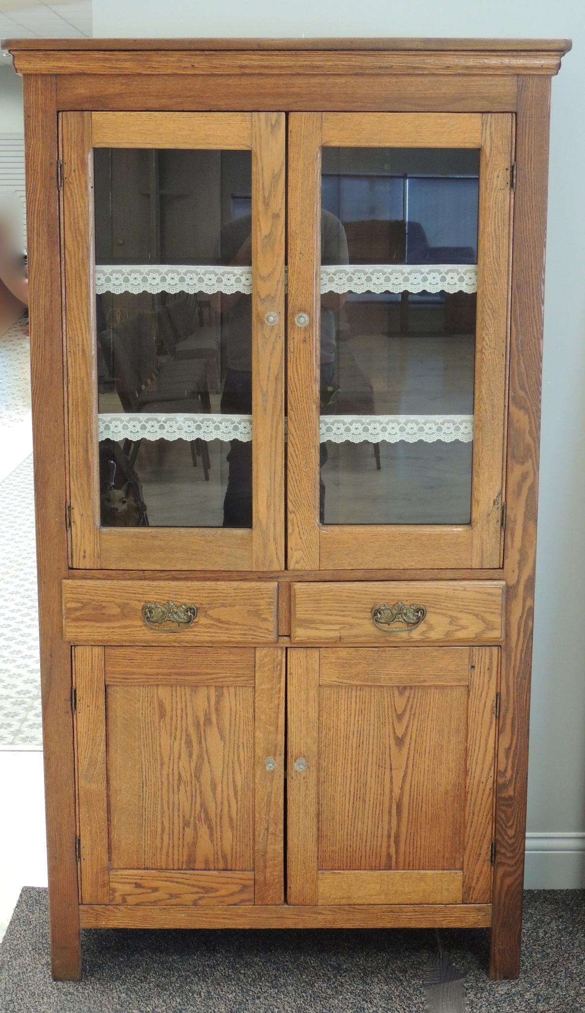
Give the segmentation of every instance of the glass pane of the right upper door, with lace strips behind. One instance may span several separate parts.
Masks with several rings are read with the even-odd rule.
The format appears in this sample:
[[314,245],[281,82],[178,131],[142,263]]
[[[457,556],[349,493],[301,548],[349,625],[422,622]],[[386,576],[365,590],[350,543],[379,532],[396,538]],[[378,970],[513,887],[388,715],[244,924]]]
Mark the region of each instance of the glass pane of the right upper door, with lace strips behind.
[[479,151],[322,171],[321,521],[469,524]]

